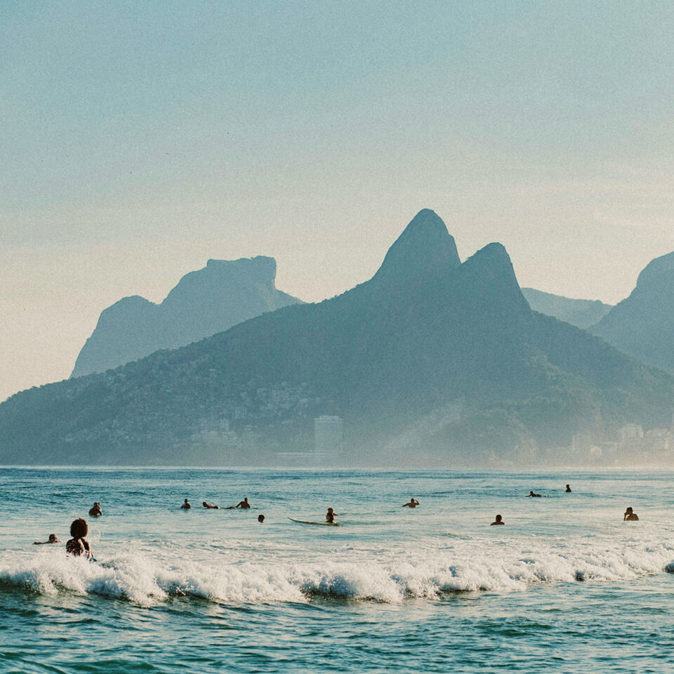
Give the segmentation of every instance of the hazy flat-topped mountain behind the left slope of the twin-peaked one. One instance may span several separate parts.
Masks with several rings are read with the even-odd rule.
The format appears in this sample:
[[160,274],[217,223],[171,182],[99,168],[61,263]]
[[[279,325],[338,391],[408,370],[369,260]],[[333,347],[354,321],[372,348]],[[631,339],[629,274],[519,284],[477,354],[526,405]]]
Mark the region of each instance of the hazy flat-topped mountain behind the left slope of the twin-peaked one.
[[71,377],[123,365],[159,349],[175,349],[300,300],[276,289],[276,260],[258,256],[209,260],[180,279],[161,304],[138,295],[101,312]]

